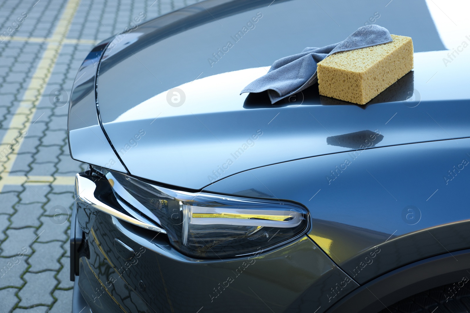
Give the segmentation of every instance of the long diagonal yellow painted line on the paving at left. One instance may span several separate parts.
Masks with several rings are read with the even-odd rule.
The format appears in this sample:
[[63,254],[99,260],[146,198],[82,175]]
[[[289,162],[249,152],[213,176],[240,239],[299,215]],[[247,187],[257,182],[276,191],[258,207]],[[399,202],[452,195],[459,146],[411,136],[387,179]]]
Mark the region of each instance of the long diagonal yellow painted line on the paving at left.
[[62,16],[55,27],[55,31],[50,38],[51,41],[47,43],[46,51],[34,71],[31,82],[26,92],[24,92],[23,99],[20,101],[20,105],[12,117],[7,132],[2,138],[0,146],[7,146],[8,148],[2,150],[6,155],[2,155],[0,159],[0,191],[5,183],[8,182],[9,178],[7,177],[10,177],[9,173],[16,160],[16,153],[24,142],[22,134],[25,134],[31,125],[32,117],[42,98],[79,4],[80,0],[69,0],[67,2]]

